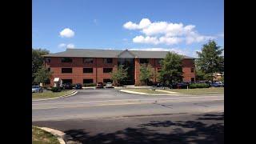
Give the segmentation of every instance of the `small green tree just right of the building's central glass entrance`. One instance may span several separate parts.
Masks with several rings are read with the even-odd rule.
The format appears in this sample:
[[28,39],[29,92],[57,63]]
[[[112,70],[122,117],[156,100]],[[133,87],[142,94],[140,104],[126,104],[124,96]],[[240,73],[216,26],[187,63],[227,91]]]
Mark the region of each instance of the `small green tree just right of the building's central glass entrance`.
[[148,85],[148,82],[150,81],[150,78],[153,78],[154,74],[152,71],[152,66],[142,64],[140,66],[140,75],[139,75],[139,80],[142,82],[142,84]]

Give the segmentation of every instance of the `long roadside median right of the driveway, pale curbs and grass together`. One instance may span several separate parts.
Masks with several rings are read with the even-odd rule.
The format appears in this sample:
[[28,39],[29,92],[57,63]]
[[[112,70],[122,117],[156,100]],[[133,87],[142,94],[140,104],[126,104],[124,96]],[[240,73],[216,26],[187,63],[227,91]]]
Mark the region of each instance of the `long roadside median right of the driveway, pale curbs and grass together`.
[[123,89],[122,92],[131,94],[148,94],[148,95],[174,95],[174,94],[223,94],[224,87],[210,87],[197,89]]

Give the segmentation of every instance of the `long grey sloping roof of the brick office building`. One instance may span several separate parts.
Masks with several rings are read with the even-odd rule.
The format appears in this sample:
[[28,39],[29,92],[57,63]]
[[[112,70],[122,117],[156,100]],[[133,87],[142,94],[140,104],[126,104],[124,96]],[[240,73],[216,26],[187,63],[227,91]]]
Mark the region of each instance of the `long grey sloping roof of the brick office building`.
[[[46,54],[44,57],[71,57],[71,58],[119,58],[119,54],[130,53],[134,58],[165,58],[169,51],[146,50],[98,50],[98,49],[66,49],[66,51],[54,54]],[[183,55],[184,58],[192,58]]]

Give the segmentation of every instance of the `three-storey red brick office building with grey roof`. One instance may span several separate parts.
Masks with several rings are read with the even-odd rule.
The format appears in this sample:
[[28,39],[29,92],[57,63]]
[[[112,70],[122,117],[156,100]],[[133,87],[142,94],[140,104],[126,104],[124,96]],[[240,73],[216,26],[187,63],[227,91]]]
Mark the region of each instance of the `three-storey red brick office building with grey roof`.
[[[167,51],[144,50],[90,50],[66,49],[66,51],[46,54],[45,66],[53,71],[50,85],[54,78],[61,78],[63,83],[97,83],[110,82],[110,72],[118,65],[128,67],[127,85],[139,85],[140,64],[148,63],[156,73],[161,69],[160,60]],[[194,58],[184,56],[182,59],[183,82],[195,81]],[[152,79],[157,82],[157,78]]]

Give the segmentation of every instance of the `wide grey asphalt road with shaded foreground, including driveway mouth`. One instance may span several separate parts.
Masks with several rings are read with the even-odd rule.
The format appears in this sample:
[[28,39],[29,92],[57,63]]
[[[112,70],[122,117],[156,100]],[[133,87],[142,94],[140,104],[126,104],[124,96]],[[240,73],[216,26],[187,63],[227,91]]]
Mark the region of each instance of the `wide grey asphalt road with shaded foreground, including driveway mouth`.
[[33,102],[32,121],[66,133],[67,143],[222,143],[224,96],[147,96],[79,90]]

